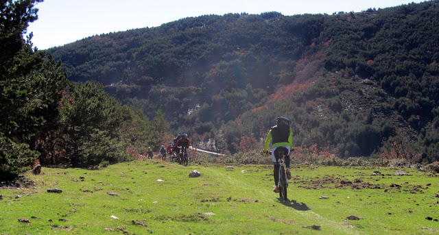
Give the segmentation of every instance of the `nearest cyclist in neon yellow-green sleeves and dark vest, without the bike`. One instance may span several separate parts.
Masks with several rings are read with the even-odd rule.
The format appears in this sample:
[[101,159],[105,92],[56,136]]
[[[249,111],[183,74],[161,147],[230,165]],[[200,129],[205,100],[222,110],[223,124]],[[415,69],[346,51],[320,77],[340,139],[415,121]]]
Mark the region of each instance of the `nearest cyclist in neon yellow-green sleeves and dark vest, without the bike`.
[[293,132],[289,125],[291,125],[291,121],[289,121],[285,116],[280,116],[276,119],[276,124],[274,127],[270,128],[270,132],[268,132],[267,139],[265,139],[265,145],[263,147],[263,151],[268,151],[268,146],[270,145],[270,141],[272,141],[272,161],[274,164],[274,185],[275,188],[273,190],[274,193],[279,193],[278,180],[279,180],[279,164],[277,156],[274,156],[274,151],[278,147],[285,147],[288,149],[288,154],[285,156],[285,166],[287,167],[287,178],[291,179],[291,173],[289,173],[289,153],[293,149]]

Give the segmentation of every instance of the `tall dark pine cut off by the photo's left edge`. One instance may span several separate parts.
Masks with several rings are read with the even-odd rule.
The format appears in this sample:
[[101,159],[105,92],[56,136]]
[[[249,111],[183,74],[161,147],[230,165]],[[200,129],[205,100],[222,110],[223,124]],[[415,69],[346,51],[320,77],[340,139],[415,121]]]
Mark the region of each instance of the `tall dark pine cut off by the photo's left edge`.
[[41,1],[0,1],[0,181],[14,180],[40,155],[38,140],[54,129],[67,82],[59,63],[32,49],[32,34],[23,38]]

